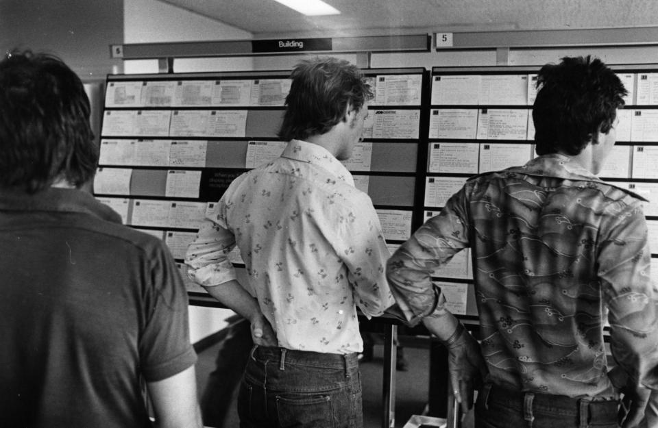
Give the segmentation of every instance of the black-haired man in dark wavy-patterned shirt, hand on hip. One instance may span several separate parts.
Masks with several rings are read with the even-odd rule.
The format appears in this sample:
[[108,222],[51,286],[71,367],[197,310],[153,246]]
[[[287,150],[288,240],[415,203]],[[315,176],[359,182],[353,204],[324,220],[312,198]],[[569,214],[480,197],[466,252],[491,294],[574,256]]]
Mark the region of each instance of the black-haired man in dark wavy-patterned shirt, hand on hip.
[[[595,175],[626,90],[589,57],[544,66],[538,87],[538,157],[472,177],[395,252],[387,276],[406,317],[446,343],[464,410],[485,375],[476,426],[617,427],[621,390],[631,407],[620,424],[632,427],[646,405],[642,386],[658,388],[651,253],[642,198]],[[479,346],[431,281],[467,247]]]

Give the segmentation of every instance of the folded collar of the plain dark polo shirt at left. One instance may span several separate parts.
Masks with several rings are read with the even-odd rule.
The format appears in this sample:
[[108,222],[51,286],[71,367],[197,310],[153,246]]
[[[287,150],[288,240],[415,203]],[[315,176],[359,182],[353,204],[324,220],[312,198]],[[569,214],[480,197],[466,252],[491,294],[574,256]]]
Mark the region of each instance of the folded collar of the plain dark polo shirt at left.
[[77,189],[47,188],[34,194],[0,189],[0,210],[77,212],[121,223],[121,216],[108,205],[97,201],[92,194]]

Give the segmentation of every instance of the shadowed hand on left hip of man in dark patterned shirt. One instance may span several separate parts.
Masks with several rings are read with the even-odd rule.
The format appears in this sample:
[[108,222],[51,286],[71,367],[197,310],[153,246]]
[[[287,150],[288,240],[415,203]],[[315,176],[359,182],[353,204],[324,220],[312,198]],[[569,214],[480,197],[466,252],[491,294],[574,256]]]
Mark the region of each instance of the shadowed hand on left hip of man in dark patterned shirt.
[[468,412],[473,407],[474,390],[482,386],[489,373],[480,344],[460,323],[443,345],[448,348],[448,371],[454,398],[461,404],[461,410]]

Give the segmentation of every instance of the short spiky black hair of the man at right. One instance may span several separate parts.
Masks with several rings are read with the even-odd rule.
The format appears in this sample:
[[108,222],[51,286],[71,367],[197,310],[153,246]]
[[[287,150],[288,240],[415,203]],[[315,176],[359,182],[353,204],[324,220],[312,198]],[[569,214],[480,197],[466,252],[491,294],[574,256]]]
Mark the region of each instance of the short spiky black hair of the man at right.
[[598,131],[607,133],[628,93],[619,77],[597,58],[562,58],[537,76],[533,106],[537,155],[562,151],[577,155]]

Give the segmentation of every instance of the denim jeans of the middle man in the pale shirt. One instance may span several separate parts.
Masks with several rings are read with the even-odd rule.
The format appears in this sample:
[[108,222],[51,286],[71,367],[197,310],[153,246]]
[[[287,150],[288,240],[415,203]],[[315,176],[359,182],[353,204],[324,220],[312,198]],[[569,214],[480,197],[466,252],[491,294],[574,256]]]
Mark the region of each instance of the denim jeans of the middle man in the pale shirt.
[[255,346],[238,395],[241,428],[363,428],[356,353]]

